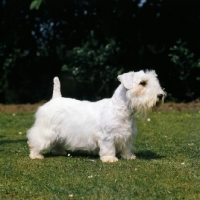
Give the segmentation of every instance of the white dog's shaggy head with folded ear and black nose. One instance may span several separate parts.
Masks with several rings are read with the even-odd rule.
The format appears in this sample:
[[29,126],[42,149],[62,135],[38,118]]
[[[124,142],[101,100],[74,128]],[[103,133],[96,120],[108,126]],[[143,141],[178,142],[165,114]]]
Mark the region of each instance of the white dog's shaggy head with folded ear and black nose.
[[145,117],[164,102],[166,92],[154,70],[125,73],[119,75],[118,80],[127,90],[128,104],[135,115]]

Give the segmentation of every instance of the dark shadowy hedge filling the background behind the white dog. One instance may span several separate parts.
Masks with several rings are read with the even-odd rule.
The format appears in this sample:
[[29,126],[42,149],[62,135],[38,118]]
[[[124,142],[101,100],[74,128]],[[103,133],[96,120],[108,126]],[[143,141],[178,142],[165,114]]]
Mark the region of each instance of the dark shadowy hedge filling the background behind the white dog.
[[[200,96],[200,1],[3,0],[1,5],[0,103],[48,100],[56,75],[62,85],[72,78],[86,85],[79,92],[68,84],[64,91],[77,91],[69,96],[99,99],[112,95],[118,73],[140,69],[156,70],[168,100]],[[179,38],[187,46],[178,47]],[[175,61],[177,55],[181,60]]]

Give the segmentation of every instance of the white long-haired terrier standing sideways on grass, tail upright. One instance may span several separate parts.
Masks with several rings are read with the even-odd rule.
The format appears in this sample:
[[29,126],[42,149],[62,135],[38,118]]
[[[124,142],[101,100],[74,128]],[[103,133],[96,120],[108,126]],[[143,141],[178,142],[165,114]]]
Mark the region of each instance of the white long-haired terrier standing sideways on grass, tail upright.
[[49,147],[55,154],[65,154],[67,147],[97,153],[103,162],[116,162],[116,154],[135,159],[135,116],[145,117],[166,95],[156,77],[154,71],[119,75],[121,84],[112,98],[97,102],[63,98],[55,77],[52,99],[38,109],[28,130],[30,158],[42,159],[42,150]]

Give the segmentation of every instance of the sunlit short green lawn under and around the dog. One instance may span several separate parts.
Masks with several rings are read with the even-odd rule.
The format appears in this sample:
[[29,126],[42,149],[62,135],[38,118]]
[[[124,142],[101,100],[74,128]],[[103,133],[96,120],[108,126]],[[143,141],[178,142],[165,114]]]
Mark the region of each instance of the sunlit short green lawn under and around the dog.
[[73,154],[30,160],[33,113],[0,114],[0,199],[200,199],[200,113],[138,120],[136,160]]

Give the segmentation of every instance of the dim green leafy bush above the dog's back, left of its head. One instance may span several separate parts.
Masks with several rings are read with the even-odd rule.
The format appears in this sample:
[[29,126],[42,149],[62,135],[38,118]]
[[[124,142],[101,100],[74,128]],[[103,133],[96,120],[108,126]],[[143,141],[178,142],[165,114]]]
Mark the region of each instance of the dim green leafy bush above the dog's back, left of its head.
[[103,45],[95,39],[94,31],[91,31],[82,46],[72,49],[68,64],[64,64],[62,70],[68,72],[70,78],[80,82],[94,84],[99,78],[102,82],[108,82],[123,72],[122,67],[117,68],[112,62],[119,53],[120,47],[114,39],[107,39]]

